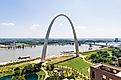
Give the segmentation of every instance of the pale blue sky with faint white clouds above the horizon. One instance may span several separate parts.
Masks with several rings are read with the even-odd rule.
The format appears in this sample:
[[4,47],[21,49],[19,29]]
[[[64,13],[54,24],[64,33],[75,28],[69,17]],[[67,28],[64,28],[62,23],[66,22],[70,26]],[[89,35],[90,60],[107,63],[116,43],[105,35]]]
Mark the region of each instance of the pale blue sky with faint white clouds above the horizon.
[[[0,38],[43,38],[54,16],[71,18],[78,38],[121,37],[121,0],[0,0]],[[51,38],[71,38],[59,17]]]

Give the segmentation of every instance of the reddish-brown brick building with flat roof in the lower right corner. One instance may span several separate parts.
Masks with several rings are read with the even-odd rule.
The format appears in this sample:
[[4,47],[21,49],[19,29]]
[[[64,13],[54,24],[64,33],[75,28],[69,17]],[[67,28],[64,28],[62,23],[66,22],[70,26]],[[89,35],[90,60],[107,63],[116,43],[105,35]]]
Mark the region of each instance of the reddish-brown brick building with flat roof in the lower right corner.
[[91,80],[121,80],[121,67],[98,64],[90,67]]

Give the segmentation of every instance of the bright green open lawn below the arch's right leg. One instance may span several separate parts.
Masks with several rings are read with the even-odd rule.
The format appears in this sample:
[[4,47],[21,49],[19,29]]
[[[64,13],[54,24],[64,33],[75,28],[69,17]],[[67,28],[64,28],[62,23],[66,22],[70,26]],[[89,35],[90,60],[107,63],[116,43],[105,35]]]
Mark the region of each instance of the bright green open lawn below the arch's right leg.
[[86,76],[89,76],[88,68],[91,66],[91,64],[85,62],[81,57],[77,57],[77,58],[59,63],[58,65],[64,65],[64,66],[74,68],[76,70],[79,70]]

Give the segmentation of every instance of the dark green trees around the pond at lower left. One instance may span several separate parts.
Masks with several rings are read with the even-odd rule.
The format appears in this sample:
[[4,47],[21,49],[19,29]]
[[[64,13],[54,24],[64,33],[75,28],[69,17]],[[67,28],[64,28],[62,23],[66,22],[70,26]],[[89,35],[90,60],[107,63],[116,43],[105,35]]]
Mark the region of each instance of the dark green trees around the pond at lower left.
[[[45,73],[41,70],[41,63],[13,68],[13,72],[10,75],[12,76],[11,80],[25,80],[29,75],[35,75],[38,79],[44,79],[45,77]],[[3,75],[2,77],[4,76],[7,75]]]

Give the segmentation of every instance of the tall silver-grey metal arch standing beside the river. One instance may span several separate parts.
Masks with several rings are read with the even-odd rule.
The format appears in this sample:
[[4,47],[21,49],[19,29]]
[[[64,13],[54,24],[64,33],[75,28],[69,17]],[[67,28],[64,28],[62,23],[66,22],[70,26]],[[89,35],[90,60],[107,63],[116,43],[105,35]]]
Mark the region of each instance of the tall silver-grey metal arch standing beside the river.
[[46,36],[45,36],[45,40],[44,40],[44,46],[43,46],[43,50],[42,50],[41,62],[45,62],[46,51],[47,51],[47,44],[48,44],[48,39],[49,39],[49,34],[50,34],[51,27],[52,27],[54,21],[56,20],[56,18],[58,18],[60,16],[63,16],[65,18],[67,18],[67,20],[70,22],[70,25],[71,25],[71,28],[72,28],[72,32],[73,32],[73,36],[74,36],[74,44],[75,44],[76,56],[77,57],[79,56],[78,40],[77,40],[76,32],[75,32],[75,29],[74,29],[74,25],[73,25],[71,19],[68,16],[66,16],[65,14],[59,14],[59,15],[57,15],[57,16],[55,16],[53,18],[53,20],[51,21],[51,23],[50,23],[50,25],[48,27],[48,30],[47,30],[47,33],[46,33]]

